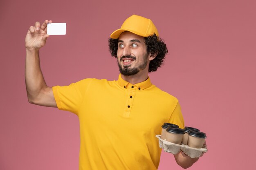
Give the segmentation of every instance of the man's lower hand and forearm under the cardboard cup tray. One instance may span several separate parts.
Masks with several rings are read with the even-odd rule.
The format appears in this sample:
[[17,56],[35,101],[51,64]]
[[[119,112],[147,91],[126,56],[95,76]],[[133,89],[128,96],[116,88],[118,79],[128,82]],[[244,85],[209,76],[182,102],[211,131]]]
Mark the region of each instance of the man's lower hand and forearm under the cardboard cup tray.
[[186,155],[184,152],[182,153],[182,151],[174,155],[174,157],[177,164],[184,169],[191,167],[193,163],[195,163],[199,159],[199,158],[191,158],[188,155]]

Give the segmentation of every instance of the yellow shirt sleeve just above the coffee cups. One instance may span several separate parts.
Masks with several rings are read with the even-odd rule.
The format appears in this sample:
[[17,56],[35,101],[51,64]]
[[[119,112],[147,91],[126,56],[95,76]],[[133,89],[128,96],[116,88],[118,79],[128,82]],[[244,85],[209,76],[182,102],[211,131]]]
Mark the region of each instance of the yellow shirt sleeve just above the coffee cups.
[[171,124],[178,125],[179,128],[182,128],[182,129],[184,128],[184,119],[181,113],[181,107],[179,102],[177,102],[177,105],[173,110],[173,113],[171,114],[171,117],[168,122]]

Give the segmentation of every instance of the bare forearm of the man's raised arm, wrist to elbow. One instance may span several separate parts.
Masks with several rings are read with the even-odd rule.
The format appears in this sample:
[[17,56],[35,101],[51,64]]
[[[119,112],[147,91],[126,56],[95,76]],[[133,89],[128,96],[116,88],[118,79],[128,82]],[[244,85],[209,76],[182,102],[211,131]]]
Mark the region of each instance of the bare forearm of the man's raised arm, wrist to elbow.
[[39,50],[27,49],[25,81],[28,100],[33,103],[40,91],[47,88],[40,69]]

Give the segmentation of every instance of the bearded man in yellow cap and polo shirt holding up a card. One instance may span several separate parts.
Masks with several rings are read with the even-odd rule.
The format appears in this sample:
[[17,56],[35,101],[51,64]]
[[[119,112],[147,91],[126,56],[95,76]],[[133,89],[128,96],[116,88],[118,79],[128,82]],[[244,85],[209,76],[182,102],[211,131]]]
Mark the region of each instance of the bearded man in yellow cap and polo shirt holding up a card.
[[[153,22],[132,15],[110,35],[111,55],[117,57],[117,81],[83,79],[69,86],[48,87],[39,64],[47,24],[36,22],[25,38],[25,79],[32,104],[58,107],[79,117],[79,170],[156,170],[161,148],[155,135],[164,122],[184,128],[178,100],[150,83],[148,72],[161,66],[167,53]],[[174,155],[183,168],[192,166],[183,152]]]

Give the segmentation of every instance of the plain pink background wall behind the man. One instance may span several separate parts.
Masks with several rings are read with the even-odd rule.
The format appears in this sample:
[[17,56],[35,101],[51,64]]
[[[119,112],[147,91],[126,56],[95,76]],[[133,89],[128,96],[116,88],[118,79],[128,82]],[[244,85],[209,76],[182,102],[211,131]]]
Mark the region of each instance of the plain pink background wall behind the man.
[[[153,84],[180,100],[186,126],[207,133],[209,152],[190,169],[254,169],[255,9],[254,0],[1,0],[0,170],[78,169],[78,117],[27,102],[29,26],[67,23],[67,35],[50,36],[40,51],[49,86],[112,80],[119,71],[108,37],[132,14],[153,20],[168,46]],[[159,170],[167,169],[181,168],[162,152]]]

